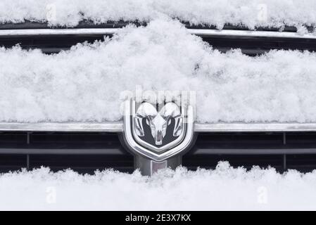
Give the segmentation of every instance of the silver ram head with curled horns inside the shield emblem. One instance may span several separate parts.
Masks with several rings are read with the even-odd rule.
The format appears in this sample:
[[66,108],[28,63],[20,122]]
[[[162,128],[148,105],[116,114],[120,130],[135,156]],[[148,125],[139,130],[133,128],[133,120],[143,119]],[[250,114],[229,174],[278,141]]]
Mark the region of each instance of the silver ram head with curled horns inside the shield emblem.
[[183,117],[177,104],[166,103],[158,112],[151,103],[142,103],[134,117],[135,132],[137,136],[145,136],[143,120],[146,120],[146,124],[151,128],[151,136],[153,136],[156,146],[161,146],[172,118],[175,120],[173,136],[179,136],[183,130]]

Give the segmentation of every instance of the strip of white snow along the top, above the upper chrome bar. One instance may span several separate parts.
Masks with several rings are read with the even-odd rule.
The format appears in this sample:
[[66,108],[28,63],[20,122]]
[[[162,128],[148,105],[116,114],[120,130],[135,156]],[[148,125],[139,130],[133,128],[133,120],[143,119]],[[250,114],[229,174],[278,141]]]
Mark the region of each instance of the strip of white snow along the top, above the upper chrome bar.
[[45,21],[51,25],[77,25],[80,20],[150,21],[161,15],[194,24],[225,23],[282,27],[315,25],[315,0],[2,0],[0,22]]

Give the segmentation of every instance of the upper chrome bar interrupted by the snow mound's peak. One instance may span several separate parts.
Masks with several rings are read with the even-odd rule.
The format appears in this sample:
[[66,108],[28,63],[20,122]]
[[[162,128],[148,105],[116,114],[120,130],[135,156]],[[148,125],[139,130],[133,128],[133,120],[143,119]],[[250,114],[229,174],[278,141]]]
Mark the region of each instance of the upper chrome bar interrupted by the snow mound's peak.
[[[0,30],[0,37],[30,35],[80,35],[80,34],[115,34],[121,28],[68,28],[68,29],[20,29]],[[198,36],[236,36],[236,37],[280,37],[316,39],[315,34],[298,34],[297,32],[251,31],[251,30],[211,30],[187,29]]]

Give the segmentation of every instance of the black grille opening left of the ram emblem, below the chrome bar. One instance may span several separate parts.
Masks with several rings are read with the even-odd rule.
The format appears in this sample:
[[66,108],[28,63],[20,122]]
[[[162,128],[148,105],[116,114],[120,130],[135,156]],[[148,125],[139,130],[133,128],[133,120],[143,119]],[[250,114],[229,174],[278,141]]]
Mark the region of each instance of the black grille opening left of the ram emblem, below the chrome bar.
[[0,172],[42,166],[53,171],[71,168],[82,173],[106,168],[132,172],[133,160],[115,133],[0,133]]

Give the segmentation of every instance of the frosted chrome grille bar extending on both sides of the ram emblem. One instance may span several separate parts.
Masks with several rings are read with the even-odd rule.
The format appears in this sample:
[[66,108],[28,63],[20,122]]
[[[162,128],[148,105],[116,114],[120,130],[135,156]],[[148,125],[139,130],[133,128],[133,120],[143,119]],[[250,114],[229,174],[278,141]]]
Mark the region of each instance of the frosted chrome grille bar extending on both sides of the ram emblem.
[[[105,123],[0,123],[0,131],[122,132],[122,122]],[[316,131],[316,123],[194,124],[196,132]]]

